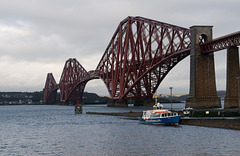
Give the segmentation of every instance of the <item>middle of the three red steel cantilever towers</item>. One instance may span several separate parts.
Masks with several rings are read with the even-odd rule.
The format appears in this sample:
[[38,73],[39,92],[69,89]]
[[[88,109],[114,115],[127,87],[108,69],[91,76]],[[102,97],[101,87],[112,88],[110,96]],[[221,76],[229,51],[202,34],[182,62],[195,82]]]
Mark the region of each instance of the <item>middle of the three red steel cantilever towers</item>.
[[82,65],[75,58],[68,59],[59,82],[61,102],[82,101],[82,94],[88,80],[90,76]]

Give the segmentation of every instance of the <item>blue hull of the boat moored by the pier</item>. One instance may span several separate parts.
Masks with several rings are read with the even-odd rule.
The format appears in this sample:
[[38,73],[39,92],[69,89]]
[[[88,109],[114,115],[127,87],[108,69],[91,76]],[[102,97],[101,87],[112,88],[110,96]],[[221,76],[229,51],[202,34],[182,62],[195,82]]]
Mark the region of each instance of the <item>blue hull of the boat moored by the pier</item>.
[[148,118],[143,119],[139,117],[139,121],[145,124],[158,124],[158,125],[178,125],[181,116],[171,116],[164,118]]

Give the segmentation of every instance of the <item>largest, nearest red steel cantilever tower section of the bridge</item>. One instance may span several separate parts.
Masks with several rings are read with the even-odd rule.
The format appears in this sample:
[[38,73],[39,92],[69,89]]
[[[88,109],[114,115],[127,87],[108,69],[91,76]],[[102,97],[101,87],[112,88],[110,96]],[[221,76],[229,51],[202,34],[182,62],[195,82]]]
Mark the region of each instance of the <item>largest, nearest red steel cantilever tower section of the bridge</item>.
[[96,70],[112,99],[151,99],[167,73],[189,54],[189,29],[127,17]]

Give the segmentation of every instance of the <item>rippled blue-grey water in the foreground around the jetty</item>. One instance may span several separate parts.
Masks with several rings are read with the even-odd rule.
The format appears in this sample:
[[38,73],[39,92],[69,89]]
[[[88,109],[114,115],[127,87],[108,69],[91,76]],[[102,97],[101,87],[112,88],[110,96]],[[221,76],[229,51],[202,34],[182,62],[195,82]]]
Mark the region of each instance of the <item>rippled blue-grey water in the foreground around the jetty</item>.
[[[0,155],[239,155],[240,131],[182,125],[139,124],[87,111],[129,108],[84,106],[1,106]],[[133,108],[133,111],[146,109]]]

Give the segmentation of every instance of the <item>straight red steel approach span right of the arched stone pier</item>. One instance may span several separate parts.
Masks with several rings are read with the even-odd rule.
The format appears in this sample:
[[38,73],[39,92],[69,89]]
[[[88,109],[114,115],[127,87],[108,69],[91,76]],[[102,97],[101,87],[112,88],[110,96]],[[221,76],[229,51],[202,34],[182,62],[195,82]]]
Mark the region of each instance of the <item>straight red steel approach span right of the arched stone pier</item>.
[[202,53],[211,53],[226,49],[231,46],[240,45],[240,31],[226,36],[222,36],[200,45]]

